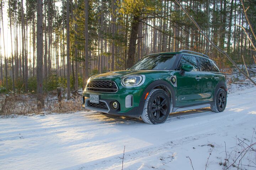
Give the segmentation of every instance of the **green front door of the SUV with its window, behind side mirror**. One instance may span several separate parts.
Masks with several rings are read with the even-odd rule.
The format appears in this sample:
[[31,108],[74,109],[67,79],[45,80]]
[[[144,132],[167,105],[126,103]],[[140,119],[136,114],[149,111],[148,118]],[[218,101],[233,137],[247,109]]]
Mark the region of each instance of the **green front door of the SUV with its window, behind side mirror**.
[[[191,72],[180,75],[181,66],[190,64],[193,66]],[[201,102],[202,96],[202,77],[198,75],[199,67],[196,56],[183,55],[178,71],[175,73],[177,78],[177,101],[176,106],[187,106]]]

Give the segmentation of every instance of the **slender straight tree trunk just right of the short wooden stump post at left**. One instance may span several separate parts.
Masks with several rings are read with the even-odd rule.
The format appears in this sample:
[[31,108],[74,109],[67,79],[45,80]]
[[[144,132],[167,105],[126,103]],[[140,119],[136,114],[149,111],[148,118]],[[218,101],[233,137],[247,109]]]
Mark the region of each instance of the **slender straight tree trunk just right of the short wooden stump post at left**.
[[70,99],[70,59],[69,59],[69,0],[66,1],[66,32],[67,32],[67,100]]

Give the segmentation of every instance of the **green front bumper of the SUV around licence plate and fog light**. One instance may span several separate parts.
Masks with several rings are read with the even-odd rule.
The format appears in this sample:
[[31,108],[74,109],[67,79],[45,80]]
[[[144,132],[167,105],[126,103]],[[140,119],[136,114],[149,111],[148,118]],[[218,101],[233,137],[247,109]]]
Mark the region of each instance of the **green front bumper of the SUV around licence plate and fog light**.
[[[84,91],[83,106],[86,109],[114,115],[139,116],[142,114],[144,108],[144,102],[140,102],[144,90],[145,89],[118,90],[116,93]],[[99,95],[100,104],[90,103],[90,94]],[[130,96],[132,96],[132,98],[130,98]],[[132,100],[130,102],[132,103],[131,106],[128,106],[127,100]],[[119,106],[117,109],[112,107],[113,102],[118,102]]]

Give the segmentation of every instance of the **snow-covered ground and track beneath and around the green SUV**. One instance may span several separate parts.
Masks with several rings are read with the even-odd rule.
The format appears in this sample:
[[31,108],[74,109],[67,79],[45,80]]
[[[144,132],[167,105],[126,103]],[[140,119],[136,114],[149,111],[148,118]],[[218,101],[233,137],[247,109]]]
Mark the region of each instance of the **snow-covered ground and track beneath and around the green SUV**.
[[[97,112],[0,119],[0,169],[121,170],[123,160],[124,170],[221,170],[240,154],[238,138],[256,142],[256,87],[229,89],[224,112],[173,113],[160,125]],[[255,159],[245,155],[243,168]]]

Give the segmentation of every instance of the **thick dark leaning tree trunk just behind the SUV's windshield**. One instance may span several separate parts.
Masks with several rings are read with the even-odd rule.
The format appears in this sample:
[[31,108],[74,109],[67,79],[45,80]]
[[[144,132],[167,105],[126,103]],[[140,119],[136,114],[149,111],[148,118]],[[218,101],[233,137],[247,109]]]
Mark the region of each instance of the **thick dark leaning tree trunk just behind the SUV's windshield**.
[[134,15],[132,21],[132,30],[130,34],[129,40],[129,49],[128,49],[128,56],[127,56],[127,68],[130,68],[134,64],[134,58],[136,53],[136,41],[138,36],[138,28],[139,28],[139,16]]

